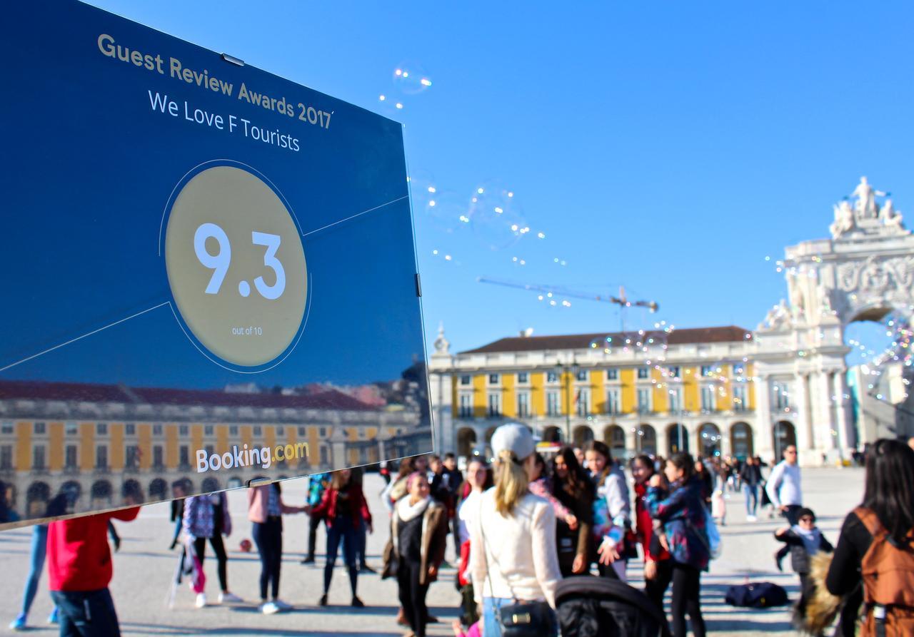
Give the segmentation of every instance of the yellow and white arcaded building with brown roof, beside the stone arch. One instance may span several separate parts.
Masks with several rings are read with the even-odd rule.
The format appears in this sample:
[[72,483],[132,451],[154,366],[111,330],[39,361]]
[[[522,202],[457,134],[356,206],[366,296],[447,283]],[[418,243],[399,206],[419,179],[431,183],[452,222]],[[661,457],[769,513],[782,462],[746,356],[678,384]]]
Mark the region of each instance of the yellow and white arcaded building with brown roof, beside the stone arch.
[[486,454],[494,429],[516,422],[544,441],[603,441],[619,457],[771,454],[751,341],[735,326],[657,329],[511,337],[452,354],[441,334],[430,387],[442,446]]

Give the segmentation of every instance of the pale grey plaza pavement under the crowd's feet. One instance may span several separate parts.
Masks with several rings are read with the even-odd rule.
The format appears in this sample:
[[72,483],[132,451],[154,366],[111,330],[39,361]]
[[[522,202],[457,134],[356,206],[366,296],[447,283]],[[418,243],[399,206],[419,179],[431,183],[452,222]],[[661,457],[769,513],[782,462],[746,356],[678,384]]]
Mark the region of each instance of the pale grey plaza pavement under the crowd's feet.
[[[803,490],[807,506],[819,516],[820,527],[833,543],[847,511],[863,494],[862,469],[806,469]],[[283,499],[287,504],[301,504],[306,480],[283,483]],[[366,496],[375,517],[375,534],[368,538],[369,565],[380,569],[380,555],[388,538],[388,515],[379,498],[383,486],[376,474],[366,476]],[[398,636],[404,632],[396,624],[398,609],[397,585],[392,580],[380,580],[377,575],[359,577],[359,595],[367,608],[349,606],[348,580],[337,561],[330,606],[321,608],[317,600],[323,585],[324,531],[318,533],[316,566],[299,564],[306,545],[306,520],[303,515],[285,517],[284,559],[282,563],[281,597],[294,606],[293,611],[264,616],[257,611],[258,575],[260,563],[256,553],[239,550],[239,541],[250,538],[247,521],[247,499],[243,491],[230,492],[229,509],[234,532],[227,539],[229,553],[228,585],[246,603],[210,605],[194,608],[194,595],[186,586],[177,591],[175,608],[165,605],[170,581],[175,572],[177,553],[169,551],[172,526],[168,521],[168,505],[146,506],[134,522],[115,522],[122,537],[122,547],[114,556],[112,594],[121,619],[124,635],[356,635]],[[770,580],[784,586],[792,599],[798,595],[798,580],[790,571],[790,559],[784,562],[785,573],[774,568],[772,555],[778,544],[772,531],[782,524],[782,518],[769,520],[760,516],[756,523],[746,522],[743,497],[732,494],[727,501],[727,524],[723,531],[724,550],[720,559],[712,562],[710,572],[702,578],[702,607],[708,631],[717,635],[791,635],[790,609],[746,611],[729,607],[724,602],[728,586],[747,580]],[[18,611],[22,586],[28,571],[28,547],[31,530],[21,528],[0,533],[0,634]],[[207,554],[211,548],[207,547]],[[448,558],[452,559],[449,543]],[[636,560],[630,562],[630,578],[641,586],[641,568]],[[207,593],[210,602],[218,594],[218,578],[214,559],[207,559]],[[430,635],[452,635],[450,622],[457,616],[459,596],[453,587],[453,569],[443,569],[441,580],[429,592],[430,611],[441,618],[431,624]],[[48,576],[43,575],[37,599],[29,621],[35,635],[56,634],[56,627],[46,620],[51,610],[48,596]],[[668,600],[667,600],[668,601]]]

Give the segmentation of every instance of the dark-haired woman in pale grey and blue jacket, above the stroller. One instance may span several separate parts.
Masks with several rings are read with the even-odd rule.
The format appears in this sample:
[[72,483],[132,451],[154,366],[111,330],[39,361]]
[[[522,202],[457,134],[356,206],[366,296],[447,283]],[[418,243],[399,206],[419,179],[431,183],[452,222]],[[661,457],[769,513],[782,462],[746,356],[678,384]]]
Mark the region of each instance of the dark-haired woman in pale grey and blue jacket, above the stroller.
[[612,462],[612,454],[606,444],[591,440],[584,447],[584,456],[597,489],[590,533],[599,556],[597,566],[601,576],[624,581],[623,538],[632,516],[628,484],[622,470]]

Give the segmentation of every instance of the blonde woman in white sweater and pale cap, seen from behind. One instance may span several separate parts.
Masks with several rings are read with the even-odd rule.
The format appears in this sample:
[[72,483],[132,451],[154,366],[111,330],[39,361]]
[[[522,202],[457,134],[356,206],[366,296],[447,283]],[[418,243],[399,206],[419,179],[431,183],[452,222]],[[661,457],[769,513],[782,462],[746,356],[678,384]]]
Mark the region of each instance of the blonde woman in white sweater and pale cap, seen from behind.
[[[561,580],[556,553],[556,515],[549,503],[527,491],[535,444],[522,424],[505,424],[492,436],[495,486],[479,500],[470,529],[473,592],[483,604],[484,637],[501,637],[499,610],[517,602],[556,605]],[[544,637],[558,634],[552,611]]]

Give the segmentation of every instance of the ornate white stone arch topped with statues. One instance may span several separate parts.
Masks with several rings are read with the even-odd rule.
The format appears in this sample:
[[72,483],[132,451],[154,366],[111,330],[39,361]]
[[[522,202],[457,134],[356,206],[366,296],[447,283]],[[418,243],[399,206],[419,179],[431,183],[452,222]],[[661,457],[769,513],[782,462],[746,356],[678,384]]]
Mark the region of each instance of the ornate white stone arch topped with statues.
[[[794,423],[804,465],[846,458],[869,442],[851,413],[845,329],[893,311],[914,315],[914,235],[887,196],[862,177],[834,205],[831,238],[786,248],[787,298],[754,339],[763,454],[780,453],[773,427],[781,421]],[[790,387],[786,408],[772,407],[774,383]]]

